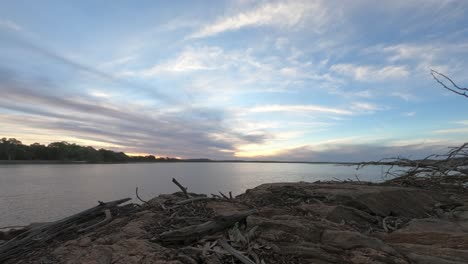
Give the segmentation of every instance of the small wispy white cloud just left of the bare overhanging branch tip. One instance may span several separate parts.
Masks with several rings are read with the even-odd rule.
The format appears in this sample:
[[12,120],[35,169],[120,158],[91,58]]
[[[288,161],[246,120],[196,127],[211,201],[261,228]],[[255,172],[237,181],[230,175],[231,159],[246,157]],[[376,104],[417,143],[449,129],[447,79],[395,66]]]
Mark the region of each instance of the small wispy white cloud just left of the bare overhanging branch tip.
[[364,82],[398,80],[409,75],[409,70],[406,66],[384,66],[378,68],[367,65],[335,64],[330,67],[330,70]]

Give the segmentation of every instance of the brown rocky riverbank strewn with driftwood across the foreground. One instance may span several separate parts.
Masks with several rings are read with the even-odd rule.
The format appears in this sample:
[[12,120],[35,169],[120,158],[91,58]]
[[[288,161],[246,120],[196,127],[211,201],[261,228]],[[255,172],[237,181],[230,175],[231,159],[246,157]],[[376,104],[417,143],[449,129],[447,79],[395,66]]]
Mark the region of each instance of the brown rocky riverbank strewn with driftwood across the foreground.
[[6,263],[466,263],[466,187],[412,184],[274,183],[232,199],[178,192],[101,205],[77,218],[81,232],[72,217],[46,243],[64,221],[21,234],[31,240]]

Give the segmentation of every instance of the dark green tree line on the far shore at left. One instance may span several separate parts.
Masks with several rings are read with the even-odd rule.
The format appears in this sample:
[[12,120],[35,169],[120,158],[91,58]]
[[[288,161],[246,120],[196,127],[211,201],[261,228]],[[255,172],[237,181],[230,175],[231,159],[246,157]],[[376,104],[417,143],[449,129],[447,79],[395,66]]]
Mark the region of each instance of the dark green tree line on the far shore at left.
[[153,155],[128,156],[123,152],[95,149],[66,141],[53,142],[49,145],[39,143],[25,145],[15,138],[2,138],[0,140],[0,160],[84,161],[91,163],[178,161],[175,158],[156,158]]

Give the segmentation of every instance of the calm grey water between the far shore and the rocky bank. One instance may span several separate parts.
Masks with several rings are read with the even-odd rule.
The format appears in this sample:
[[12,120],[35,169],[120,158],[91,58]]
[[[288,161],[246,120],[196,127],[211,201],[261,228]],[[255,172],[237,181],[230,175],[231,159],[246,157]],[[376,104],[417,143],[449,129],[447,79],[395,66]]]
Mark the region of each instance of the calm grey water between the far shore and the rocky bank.
[[338,179],[382,180],[382,168],[274,163],[144,163],[0,165],[0,227],[56,220],[124,197],[149,199],[178,191],[240,194],[269,182]]

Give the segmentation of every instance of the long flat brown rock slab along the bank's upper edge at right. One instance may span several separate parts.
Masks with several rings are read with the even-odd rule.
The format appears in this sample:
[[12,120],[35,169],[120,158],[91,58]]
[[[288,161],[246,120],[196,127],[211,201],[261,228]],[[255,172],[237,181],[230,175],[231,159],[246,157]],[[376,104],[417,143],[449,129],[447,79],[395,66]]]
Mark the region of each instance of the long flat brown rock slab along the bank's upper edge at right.
[[371,215],[424,218],[436,204],[449,203],[440,193],[415,188],[362,184],[272,183],[239,196],[256,206],[324,202],[364,211]]

